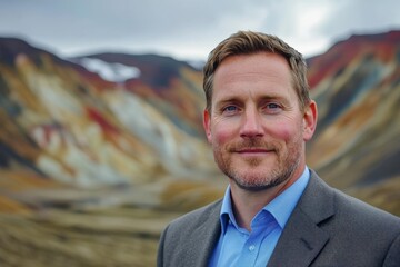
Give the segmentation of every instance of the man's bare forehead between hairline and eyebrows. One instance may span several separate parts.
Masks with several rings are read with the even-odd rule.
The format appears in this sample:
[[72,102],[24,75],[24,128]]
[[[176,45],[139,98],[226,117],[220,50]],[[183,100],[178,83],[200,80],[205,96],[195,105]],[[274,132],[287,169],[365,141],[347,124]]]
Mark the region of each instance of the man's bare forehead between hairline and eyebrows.
[[231,56],[221,62],[214,73],[214,97],[253,93],[257,90],[263,93],[296,93],[290,67],[282,56],[272,52]]

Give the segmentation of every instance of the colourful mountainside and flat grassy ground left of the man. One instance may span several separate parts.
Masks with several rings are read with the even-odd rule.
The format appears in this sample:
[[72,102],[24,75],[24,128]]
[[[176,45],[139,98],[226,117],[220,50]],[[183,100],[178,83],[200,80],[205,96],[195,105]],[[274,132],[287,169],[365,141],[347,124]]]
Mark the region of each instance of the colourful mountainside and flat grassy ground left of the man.
[[186,62],[0,38],[0,265],[153,266],[166,224],[221,195],[202,107]]

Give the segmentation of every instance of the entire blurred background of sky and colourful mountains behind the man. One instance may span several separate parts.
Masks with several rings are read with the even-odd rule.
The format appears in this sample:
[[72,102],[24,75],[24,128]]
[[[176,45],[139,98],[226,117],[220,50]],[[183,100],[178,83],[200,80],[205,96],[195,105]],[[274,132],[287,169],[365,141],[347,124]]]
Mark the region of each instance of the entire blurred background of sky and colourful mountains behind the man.
[[238,30],[302,52],[308,165],[400,216],[396,0],[0,0],[0,265],[154,266],[221,197],[201,116],[208,52]]

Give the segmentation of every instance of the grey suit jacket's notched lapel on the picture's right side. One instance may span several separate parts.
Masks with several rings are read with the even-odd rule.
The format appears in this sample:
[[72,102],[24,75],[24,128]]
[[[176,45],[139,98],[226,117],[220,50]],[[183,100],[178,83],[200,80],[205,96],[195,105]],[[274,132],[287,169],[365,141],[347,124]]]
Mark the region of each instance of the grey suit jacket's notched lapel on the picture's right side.
[[268,267],[309,266],[330,238],[319,224],[333,214],[333,194],[312,171],[309,185],[289,218]]

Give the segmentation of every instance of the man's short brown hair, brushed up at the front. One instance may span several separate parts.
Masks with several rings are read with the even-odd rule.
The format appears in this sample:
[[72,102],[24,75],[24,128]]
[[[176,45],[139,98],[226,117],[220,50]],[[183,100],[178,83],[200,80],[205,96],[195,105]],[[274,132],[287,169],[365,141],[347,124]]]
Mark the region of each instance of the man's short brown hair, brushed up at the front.
[[293,87],[299,97],[301,110],[310,102],[307,81],[307,65],[300,52],[278,37],[252,31],[238,31],[221,41],[209,55],[203,68],[203,89],[207,109],[211,111],[213,76],[219,65],[230,56],[250,55],[256,52],[273,52],[288,61],[293,79]]

